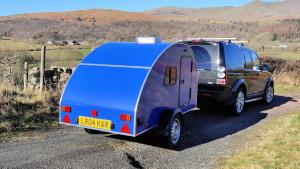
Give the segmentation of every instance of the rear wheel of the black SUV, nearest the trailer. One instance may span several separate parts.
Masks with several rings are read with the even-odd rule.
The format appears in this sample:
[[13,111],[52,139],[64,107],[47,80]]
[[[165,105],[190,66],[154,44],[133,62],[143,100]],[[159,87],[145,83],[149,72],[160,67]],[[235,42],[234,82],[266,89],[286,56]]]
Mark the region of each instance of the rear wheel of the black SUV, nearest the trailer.
[[245,107],[245,92],[242,88],[239,88],[234,94],[233,104],[231,110],[234,115],[241,115]]

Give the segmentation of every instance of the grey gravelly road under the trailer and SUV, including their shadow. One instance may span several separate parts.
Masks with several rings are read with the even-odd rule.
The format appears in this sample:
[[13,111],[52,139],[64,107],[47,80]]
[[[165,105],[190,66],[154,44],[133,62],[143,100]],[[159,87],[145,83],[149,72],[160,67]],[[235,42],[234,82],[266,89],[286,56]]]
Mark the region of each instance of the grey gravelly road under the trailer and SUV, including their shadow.
[[213,107],[188,113],[178,151],[164,148],[154,132],[133,139],[62,127],[0,143],[0,168],[214,168],[244,144],[243,134],[272,116],[300,110],[299,102],[300,94],[276,96],[269,106],[248,104],[238,117]]

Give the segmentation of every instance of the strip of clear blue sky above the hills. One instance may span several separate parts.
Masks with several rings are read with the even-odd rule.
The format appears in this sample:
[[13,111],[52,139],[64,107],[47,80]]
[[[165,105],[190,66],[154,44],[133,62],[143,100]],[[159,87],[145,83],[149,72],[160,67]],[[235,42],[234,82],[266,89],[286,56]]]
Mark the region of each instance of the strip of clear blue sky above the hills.
[[[33,12],[60,12],[80,9],[144,11],[163,6],[241,6],[252,0],[1,0],[0,16]],[[276,0],[266,0],[276,1]]]

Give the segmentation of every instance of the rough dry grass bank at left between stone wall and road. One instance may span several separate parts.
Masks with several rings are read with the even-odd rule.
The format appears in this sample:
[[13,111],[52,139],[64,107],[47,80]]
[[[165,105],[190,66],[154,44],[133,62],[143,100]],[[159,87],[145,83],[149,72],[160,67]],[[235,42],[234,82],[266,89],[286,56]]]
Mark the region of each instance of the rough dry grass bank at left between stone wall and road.
[[11,133],[57,127],[59,93],[21,91],[0,85],[0,141]]

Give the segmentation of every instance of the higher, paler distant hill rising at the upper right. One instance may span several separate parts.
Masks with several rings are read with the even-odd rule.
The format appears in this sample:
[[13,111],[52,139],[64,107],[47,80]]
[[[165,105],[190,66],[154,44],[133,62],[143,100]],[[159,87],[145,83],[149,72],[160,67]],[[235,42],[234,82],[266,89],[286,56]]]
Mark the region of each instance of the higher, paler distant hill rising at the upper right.
[[253,1],[241,7],[217,8],[157,8],[145,13],[156,16],[209,18],[215,20],[274,20],[300,17],[300,1],[286,0],[279,2]]

